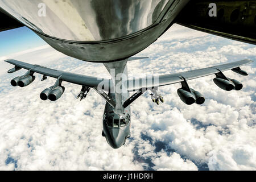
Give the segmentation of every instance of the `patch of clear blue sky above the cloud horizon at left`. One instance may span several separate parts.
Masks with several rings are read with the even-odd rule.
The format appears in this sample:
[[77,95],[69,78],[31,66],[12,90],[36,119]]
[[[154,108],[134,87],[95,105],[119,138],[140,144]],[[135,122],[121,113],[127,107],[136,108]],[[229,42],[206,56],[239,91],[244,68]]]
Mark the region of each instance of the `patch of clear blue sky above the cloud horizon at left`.
[[27,27],[0,32],[0,56],[46,45],[44,40]]

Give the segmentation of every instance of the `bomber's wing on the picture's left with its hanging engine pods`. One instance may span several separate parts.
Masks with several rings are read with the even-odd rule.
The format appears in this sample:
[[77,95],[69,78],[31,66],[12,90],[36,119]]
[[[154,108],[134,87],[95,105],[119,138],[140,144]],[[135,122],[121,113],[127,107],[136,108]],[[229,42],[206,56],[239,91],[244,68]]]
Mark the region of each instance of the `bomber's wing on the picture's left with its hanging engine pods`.
[[[90,88],[93,88],[97,91],[109,104],[112,106],[115,105],[115,102],[112,100],[112,98],[108,97],[108,94],[106,94],[104,91],[109,91],[112,86],[112,81],[105,78],[98,78],[98,77],[92,77],[92,76],[86,76],[86,75],[79,75],[76,73],[69,73],[64,71],[59,71],[56,69],[51,69],[47,67],[43,67],[41,65],[36,64],[28,64],[24,63],[22,61],[17,61],[13,59],[5,60],[7,63],[15,65],[13,69],[10,69],[8,73],[13,73],[16,71],[19,71],[21,68],[27,69],[28,72],[20,77],[16,77],[11,81],[11,85],[20,87],[27,86],[31,84],[35,80],[34,73],[39,73],[43,75],[42,81],[47,79],[47,76],[57,78],[55,85],[51,86],[50,88],[45,89],[41,94],[40,98],[42,100],[51,100],[56,101],[58,100],[62,94],[65,91],[64,86],[61,86],[62,81],[67,81],[72,84],[81,85],[81,93],[77,98],[81,98],[83,100]],[[101,87],[99,86],[101,85]]]

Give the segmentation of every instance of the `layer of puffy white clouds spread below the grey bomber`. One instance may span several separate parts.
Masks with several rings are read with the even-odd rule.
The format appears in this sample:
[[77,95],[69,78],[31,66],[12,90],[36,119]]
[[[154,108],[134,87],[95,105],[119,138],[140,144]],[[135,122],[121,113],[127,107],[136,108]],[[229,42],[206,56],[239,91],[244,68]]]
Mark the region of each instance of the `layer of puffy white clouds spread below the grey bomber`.
[[[128,63],[130,76],[166,74],[204,68],[241,59],[256,60],[255,46],[175,25],[139,53],[149,60]],[[85,75],[108,76],[102,64],[86,63],[45,46],[1,59],[15,58]],[[46,62],[47,60],[47,62]],[[131,107],[131,138],[113,150],[101,137],[105,102],[95,92],[76,100],[80,86],[64,82],[57,102],[41,101],[40,92],[54,84],[41,76],[26,88],[13,88],[13,75],[0,69],[1,170],[255,170],[255,63],[242,67],[250,76],[231,71],[243,82],[239,91],[225,92],[214,76],[189,81],[204,94],[205,104],[187,106],[176,90],[164,86],[164,104],[144,94]]]

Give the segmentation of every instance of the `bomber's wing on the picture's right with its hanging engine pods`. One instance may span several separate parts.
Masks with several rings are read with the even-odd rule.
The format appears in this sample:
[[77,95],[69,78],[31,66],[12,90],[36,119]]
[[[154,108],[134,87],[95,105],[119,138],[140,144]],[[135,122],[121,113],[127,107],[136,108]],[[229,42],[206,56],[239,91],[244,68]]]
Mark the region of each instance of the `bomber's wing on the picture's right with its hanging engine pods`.
[[233,63],[226,63],[221,65],[216,65],[209,68],[196,69],[192,71],[173,73],[168,75],[152,76],[146,78],[133,78],[125,82],[126,88],[129,92],[137,91],[133,96],[123,103],[123,107],[129,106],[134,102],[139,96],[141,96],[146,90],[151,90],[151,98],[153,102],[159,104],[159,100],[163,102],[163,97],[160,96],[158,92],[159,86],[171,85],[176,83],[181,83],[181,88],[177,90],[177,94],[181,100],[188,105],[193,103],[203,104],[205,99],[200,92],[189,88],[187,80],[192,80],[199,77],[204,77],[208,75],[216,75],[214,78],[214,83],[226,91],[230,90],[241,90],[241,82],[227,78],[222,72],[231,69],[240,75],[246,76],[247,73],[243,71],[240,67],[245,64],[253,63],[252,60],[241,60]]

